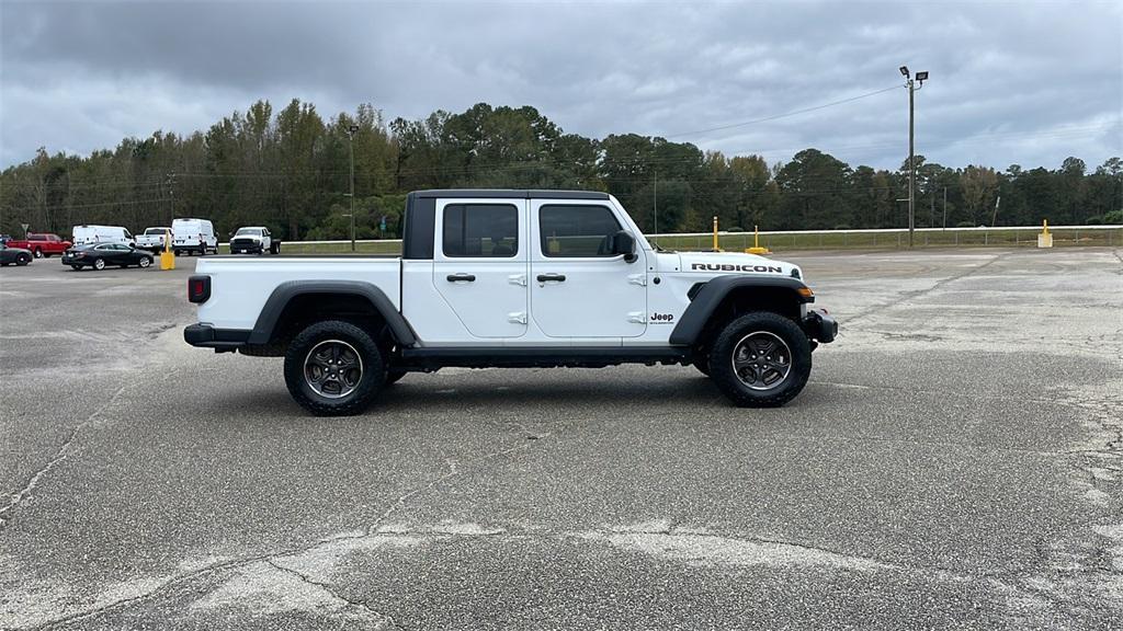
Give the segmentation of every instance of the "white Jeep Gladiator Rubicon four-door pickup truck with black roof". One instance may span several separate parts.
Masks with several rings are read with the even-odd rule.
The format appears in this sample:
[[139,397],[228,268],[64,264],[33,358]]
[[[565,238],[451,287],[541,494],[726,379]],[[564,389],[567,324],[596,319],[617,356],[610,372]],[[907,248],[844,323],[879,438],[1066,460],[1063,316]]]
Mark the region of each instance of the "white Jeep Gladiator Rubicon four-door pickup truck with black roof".
[[605,193],[417,191],[404,221],[401,257],[200,259],[184,339],[284,357],[293,399],[331,415],[446,366],[694,365],[783,405],[838,332],[797,266],[652,247]]

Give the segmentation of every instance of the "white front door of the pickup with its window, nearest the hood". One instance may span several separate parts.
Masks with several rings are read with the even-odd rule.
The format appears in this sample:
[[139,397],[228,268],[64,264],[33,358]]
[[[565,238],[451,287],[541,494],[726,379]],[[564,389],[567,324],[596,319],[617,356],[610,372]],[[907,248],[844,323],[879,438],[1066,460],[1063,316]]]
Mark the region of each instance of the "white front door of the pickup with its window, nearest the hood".
[[555,338],[629,338],[647,329],[645,257],[612,254],[622,229],[604,202],[532,201],[530,304]]

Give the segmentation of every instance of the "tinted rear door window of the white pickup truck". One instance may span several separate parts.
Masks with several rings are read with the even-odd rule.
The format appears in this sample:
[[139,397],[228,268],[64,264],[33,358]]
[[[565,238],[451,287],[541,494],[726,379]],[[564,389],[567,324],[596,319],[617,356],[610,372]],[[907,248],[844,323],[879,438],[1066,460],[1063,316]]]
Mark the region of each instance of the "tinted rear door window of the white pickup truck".
[[510,258],[519,252],[519,209],[510,204],[445,207],[445,256]]

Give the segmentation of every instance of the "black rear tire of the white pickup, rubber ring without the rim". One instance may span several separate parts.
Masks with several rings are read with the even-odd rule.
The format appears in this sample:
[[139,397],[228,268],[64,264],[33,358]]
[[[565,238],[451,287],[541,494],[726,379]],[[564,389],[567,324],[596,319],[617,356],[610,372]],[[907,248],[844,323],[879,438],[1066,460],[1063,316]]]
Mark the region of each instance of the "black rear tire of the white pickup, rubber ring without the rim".
[[[304,377],[309,353],[320,342],[339,340],[351,346],[362,360],[362,376],[350,393],[332,399],[312,390]],[[363,329],[340,320],[325,320],[301,331],[284,356],[284,381],[289,393],[318,417],[346,417],[366,410],[386,382],[386,363],[374,339]]]

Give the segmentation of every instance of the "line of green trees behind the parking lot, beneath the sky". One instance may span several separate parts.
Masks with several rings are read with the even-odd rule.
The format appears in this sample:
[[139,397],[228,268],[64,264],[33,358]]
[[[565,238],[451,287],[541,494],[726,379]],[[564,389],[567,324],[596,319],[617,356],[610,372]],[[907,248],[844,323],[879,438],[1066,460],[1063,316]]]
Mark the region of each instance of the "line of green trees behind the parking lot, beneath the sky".
[[[350,199],[354,155],[355,196]],[[1089,168],[950,167],[916,156],[916,226],[1123,223],[1123,161]],[[433,188],[584,189],[615,195],[647,232],[907,227],[907,163],[851,167],[818,149],[768,164],[636,134],[566,134],[531,107],[478,103],[389,124],[363,104],[325,119],[311,103],[257,101],[207,131],[156,131],[89,156],[0,173],[0,231],[69,235],[211,219],[223,237],[267,226],[287,240],[400,236],[405,193]]]

